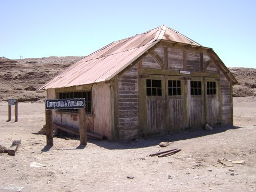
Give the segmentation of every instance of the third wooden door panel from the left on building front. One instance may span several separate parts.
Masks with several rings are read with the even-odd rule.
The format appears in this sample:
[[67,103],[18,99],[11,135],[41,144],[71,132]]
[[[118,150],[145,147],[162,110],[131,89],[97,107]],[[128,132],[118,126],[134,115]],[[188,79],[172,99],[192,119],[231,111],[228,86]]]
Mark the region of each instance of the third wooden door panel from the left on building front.
[[204,126],[204,80],[192,77],[187,84],[189,127],[201,129]]

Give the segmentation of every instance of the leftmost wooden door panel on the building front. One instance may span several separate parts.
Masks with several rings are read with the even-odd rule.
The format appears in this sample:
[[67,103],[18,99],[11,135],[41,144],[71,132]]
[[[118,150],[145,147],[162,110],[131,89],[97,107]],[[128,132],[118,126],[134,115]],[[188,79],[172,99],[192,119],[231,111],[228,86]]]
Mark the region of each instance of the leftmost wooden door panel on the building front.
[[165,131],[165,79],[161,75],[148,75],[143,79],[145,108],[143,135],[163,135]]

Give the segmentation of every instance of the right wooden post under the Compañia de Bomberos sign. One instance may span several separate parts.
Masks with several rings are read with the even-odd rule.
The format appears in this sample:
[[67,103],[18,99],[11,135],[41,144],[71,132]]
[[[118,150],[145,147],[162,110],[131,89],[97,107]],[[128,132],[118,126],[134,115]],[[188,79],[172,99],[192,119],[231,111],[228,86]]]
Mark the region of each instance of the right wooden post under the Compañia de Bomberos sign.
[[86,130],[86,109],[79,109],[79,135],[80,145],[87,144],[87,130]]

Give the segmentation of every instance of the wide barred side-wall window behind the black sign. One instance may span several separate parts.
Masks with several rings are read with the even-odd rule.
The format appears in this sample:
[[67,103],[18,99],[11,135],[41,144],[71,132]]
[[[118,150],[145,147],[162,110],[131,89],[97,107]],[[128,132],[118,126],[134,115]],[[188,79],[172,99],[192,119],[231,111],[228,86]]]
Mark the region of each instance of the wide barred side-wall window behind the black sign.
[[[76,91],[76,92],[59,92],[59,99],[75,99],[75,98],[86,99],[86,113],[87,114],[92,113],[91,90]],[[58,110],[58,111],[78,113],[78,109],[65,109],[65,110]]]

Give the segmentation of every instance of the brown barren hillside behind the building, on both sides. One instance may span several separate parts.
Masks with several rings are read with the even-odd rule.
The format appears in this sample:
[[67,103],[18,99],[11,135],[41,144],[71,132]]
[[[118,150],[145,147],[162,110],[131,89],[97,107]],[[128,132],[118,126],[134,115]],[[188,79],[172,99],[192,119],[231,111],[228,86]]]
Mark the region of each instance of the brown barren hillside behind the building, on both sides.
[[[46,97],[39,87],[55,75],[82,59],[78,56],[8,59],[0,57],[0,101],[17,98],[22,101],[42,101]],[[256,69],[229,68],[239,85],[234,86],[234,97],[256,96]]]

